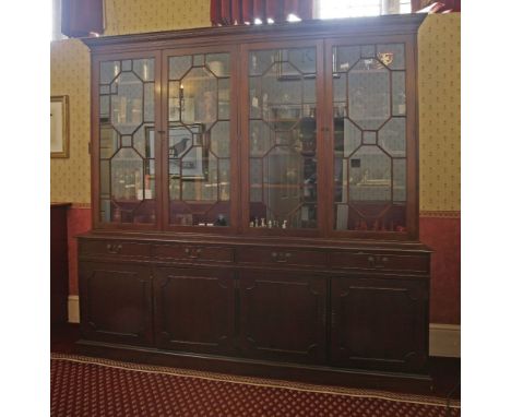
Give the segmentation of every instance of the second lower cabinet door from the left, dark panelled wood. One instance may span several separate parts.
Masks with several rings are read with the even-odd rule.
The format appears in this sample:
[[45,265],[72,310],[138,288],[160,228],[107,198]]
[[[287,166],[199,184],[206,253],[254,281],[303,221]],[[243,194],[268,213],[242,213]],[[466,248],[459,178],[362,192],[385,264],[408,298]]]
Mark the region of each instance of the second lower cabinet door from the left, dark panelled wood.
[[234,295],[230,271],[156,269],[157,346],[195,353],[230,353]]

